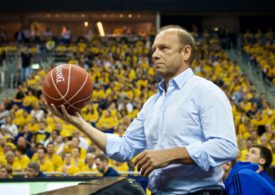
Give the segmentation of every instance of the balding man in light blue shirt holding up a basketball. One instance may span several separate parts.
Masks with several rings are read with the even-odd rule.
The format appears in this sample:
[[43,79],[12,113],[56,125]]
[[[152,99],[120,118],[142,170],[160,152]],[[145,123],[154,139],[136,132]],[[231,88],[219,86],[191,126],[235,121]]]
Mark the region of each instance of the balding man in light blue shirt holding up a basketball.
[[[155,71],[163,78],[122,138],[91,127],[79,114],[51,111],[75,125],[117,161],[129,161],[149,176],[154,194],[220,193],[221,164],[238,149],[230,103],[212,82],[195,76],[194,39],[178,26],[160,30],[153,44]],[[211,189],[209,189],[211,188]]]

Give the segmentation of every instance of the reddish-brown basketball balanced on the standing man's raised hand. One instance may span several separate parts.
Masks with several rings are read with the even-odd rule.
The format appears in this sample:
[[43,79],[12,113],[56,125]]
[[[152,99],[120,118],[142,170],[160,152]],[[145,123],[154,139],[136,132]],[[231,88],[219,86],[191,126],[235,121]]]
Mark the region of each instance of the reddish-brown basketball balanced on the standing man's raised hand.
[[48,105],[54,104],[59,111],[64,105],[69,114],[74,114],[89,103],[93,84],[83,68],[61,64],[46,75],[42,91]]

